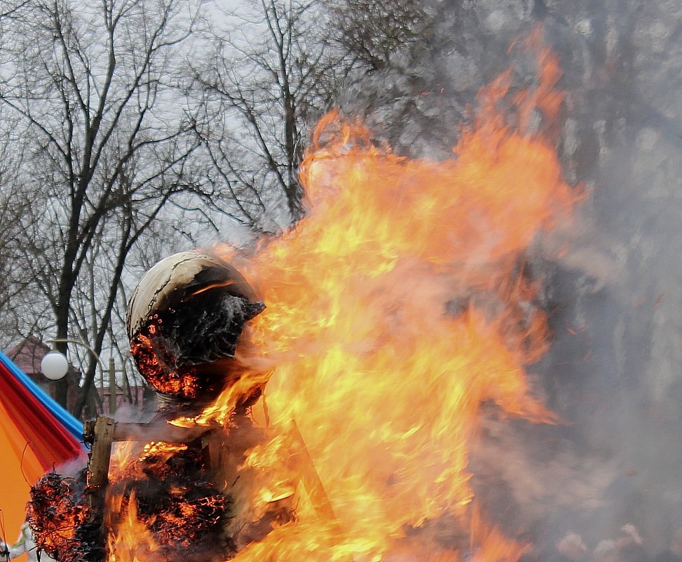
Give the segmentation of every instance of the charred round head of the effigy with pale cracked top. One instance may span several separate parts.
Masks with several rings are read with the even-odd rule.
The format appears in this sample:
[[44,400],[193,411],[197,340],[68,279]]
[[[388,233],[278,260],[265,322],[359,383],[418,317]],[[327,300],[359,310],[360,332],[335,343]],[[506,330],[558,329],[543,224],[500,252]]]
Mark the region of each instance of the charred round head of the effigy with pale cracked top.
[[166,257],[128,303],[135,364],[166,396],[211,399],[224,386],[245,324],[264,308],[231,265],[199,252]]

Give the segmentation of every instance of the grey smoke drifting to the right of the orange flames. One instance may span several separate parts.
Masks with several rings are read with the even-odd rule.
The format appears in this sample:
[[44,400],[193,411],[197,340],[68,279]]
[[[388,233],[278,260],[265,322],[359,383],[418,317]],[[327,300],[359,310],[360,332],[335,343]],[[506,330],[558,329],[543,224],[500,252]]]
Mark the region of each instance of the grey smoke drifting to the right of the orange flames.
[[[557,150],[585,189],[559,260],[528,256],[545,281],[552,347],[536,387],[566,423],[490,415],[472,459],[479,500],[511,533],[542,544],[571,528],[588,546],[635,523],[650,551],[682,514],[682,58],[675,2],[426,3],[430,39],[351,83],[341,111],[362,116],[399,154],[442,159],[479,88],[510,65],[514,87],[537,80],[509,47],[543,26],[566,91]],[[546,248],[546,246],[545,246]]]

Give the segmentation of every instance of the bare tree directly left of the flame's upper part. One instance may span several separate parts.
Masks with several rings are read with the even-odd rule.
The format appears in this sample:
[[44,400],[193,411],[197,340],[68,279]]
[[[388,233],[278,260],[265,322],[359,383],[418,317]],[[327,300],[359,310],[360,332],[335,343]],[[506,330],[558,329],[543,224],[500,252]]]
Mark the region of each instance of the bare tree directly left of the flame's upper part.
[[233,217],[273,232],[301,216],[306,126],[332,99],[342,58],[317,2],[247,4],[214,29],[210,55],[192,66],[203,94],[195,125]]

